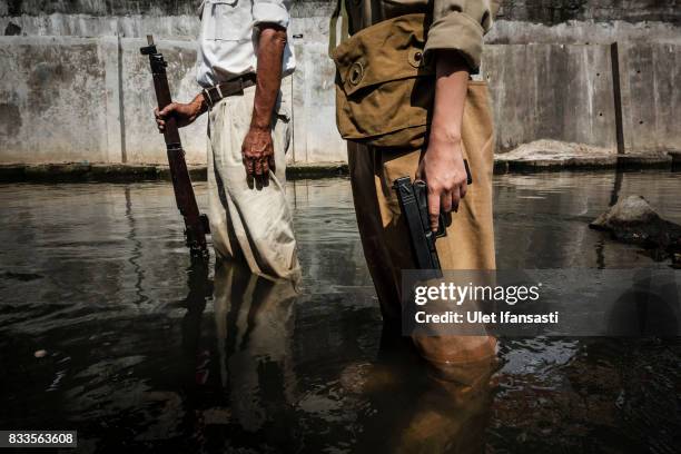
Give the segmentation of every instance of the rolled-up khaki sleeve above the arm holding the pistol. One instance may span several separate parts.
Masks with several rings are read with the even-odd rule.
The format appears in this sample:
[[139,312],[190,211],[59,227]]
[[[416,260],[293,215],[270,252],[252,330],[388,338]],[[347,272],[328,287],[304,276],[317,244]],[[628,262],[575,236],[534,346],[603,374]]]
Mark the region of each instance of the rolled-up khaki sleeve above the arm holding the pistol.
[[499,8],[495,0],[434,0],[425,51],[458,50],[473,71],[480,68],[483,36]]

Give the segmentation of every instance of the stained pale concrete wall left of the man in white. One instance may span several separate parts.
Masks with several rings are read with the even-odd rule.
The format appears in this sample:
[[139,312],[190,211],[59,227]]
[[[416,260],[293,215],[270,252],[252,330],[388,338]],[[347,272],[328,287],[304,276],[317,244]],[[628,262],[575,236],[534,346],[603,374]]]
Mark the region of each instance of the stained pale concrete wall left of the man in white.
[[[0,45],[0,162],[164,162],[140,39],[6,37]],[[196,92],[190,42],[161,42],[174,97]],[[182,134],[206,161],[206,121]]]

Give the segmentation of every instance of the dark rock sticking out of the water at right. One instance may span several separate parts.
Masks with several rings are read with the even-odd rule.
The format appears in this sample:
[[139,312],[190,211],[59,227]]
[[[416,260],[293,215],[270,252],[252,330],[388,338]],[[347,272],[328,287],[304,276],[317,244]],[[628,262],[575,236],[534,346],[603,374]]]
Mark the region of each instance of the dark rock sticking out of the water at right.
[[629,196],[589,225],[622,243],[658,249],[661,258],[681,253],[681,226],[662,219],[641,196]]

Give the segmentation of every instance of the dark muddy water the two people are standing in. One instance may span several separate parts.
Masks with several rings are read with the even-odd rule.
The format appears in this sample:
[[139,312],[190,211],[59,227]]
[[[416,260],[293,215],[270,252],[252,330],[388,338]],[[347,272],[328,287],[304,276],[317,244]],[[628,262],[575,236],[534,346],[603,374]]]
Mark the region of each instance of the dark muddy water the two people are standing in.
[[[588,221],[678,174],[495,177],[500,268],[667,267]],[[199,199],[205,185],[198,185]],[[288,184],[299,293],[190,264],[166,184],[0,186],[0,428],[78,452],[679,452],[681,343],[504,339],[493,388],[431,376],[382,324],[349,184]]]

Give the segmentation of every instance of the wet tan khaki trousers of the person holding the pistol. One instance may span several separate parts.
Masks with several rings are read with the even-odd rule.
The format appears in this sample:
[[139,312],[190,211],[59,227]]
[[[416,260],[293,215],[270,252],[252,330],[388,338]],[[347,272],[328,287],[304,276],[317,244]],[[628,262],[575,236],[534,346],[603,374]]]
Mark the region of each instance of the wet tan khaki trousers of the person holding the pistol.
[[[462,139],[473,184],[446,237],[437,239],[443,269],[494,269],[492,223],[493,130],[484,82],[470,82]],[[414,269],[406,224],[392,189],[399,177],[414,178],[421,151],[376,149],[348,142],[348,161],[364,255],[386,322],[399,319],[402,269]],[[435,365],[474,362],[494,354],[486,336],[414,338]]]

